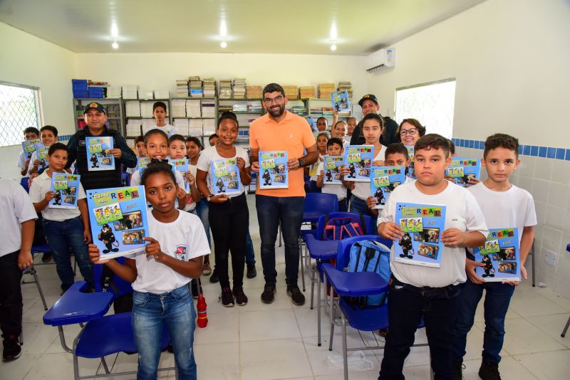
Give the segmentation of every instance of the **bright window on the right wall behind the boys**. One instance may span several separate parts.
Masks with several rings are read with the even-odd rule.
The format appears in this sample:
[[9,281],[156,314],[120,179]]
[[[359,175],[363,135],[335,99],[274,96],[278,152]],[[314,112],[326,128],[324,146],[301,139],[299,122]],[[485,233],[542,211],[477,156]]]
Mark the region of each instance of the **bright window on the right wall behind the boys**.
[[396,122],[417,119],[427,133],[450,139],[453,134],[455,78],[396,88]]

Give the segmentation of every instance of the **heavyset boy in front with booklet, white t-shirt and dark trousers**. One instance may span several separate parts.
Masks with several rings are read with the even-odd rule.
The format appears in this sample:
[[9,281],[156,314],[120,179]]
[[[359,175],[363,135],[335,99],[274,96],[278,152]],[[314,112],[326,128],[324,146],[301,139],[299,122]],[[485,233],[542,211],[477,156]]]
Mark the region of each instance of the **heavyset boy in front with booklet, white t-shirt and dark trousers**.
[[440,253],[441,268],[390,260],[390,328],[378,379],[403,379],[404,360],[410,353],[415,330],[422,319],[430,344],[435,379],[451,379],[450,347],[459,308],[457,295],[460,284],[467,278],[464,247],[481,246],[488,231],[475,197],[467,189],[445,181],[443,177],[451,162],[445,137],[426,134],[420,138],[415,143],[414,161],[418,180],[398,186],[390,194],[378,217],[378,234],[394,241],[403,236],[400,225],[395,223],[398,202],[445,205],[445,231],[441,234],[445,246]]

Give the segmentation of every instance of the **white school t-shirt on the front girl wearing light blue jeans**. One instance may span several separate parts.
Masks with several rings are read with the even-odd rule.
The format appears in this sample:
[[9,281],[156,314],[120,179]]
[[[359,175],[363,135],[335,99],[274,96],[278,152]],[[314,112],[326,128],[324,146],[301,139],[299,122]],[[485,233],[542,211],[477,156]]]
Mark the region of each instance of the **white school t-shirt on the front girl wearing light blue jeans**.
[[[182,261],[210,253],[204,226],[192,213],[178,212],[172,223],[157,221],[152,211],[147,214],[150,237],[160,243],[160,249],[167,255]],[[133,257],[134,256],[134,257]],[[190,278],[181,275],[169,266],[147,258],[146,253],[130,256],[137,264],[137,278],[133,289],[138,292],[162,294],[190,283]]]

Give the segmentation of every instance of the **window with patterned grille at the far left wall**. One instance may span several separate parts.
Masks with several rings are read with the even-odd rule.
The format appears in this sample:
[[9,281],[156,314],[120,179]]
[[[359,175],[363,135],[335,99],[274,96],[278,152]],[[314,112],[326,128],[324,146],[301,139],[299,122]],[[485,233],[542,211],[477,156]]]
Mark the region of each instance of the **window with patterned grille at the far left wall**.
[[0,147],[20,144],[27,127],[41,124],[39,88],[0,82]]

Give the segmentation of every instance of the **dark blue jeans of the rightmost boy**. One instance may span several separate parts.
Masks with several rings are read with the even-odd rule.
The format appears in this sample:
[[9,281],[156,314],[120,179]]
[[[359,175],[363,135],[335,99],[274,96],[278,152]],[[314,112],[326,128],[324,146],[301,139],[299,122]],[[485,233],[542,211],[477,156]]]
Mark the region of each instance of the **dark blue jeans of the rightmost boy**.
[[455,322],[455,341],[453,342],[453,361],[462,361],[465,356],[467,332],[473,326],[475,310],[485,290],[484,317],[485,332],[483,338],[483,360],[489,364],[499,364],[499,352],[503,347],[504,317],[507,315],[514,286],[503,283],[484,283],[477,285],[469,278],[462,285],[460,310]]

